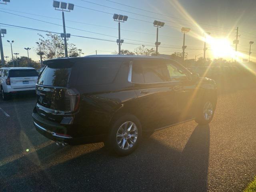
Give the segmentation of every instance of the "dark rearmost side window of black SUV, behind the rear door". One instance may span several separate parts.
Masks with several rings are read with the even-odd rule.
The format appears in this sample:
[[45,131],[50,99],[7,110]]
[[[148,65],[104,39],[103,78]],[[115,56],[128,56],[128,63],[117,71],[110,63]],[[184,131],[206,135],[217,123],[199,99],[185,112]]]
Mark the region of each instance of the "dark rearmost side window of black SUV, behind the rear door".
[[110,84],[114,81],[122,62],[92,62],[80,64],[78,86]]

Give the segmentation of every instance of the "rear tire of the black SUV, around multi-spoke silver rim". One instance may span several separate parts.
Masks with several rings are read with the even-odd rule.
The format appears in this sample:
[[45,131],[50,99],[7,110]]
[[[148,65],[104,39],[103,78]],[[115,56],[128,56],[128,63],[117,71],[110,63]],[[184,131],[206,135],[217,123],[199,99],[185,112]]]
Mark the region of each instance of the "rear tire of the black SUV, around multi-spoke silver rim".
[[[126,126],[126,123],[127,123],[127,126]],[[125,129],[127,130],[127,127],[128,126],[130,127],[132,123],[133,123],[132,130],[137,130],[137,134],[134,131],[131,131],[131,132],[125,131]],[[118,137],[117,134],[120,133],[120,130],[124,130],[125,133],[122,134],[123,136]],[[132,141],[134,141],[135,139],[134,135],[137,135],[137,137],[136,137],[136,141],[132,143]],[[138,147],[138,144],[140,143],[141,138],[142,138],[142,128],[138,118],[136,118],[136,116],[131,114],[124,114],[123,116],[113,121],[112,125],[110,126],[108,137],[106,138],[106,141],[104,141],[104,145],[110,152],[115,152],[120,156],[126,156],[128,154],[131,154]],[[118,144],[119,141],[120,141],[120,144]],[[122,145],[123,143],[124,143],[124,147],[122,149],[122,146],[120,145]]]

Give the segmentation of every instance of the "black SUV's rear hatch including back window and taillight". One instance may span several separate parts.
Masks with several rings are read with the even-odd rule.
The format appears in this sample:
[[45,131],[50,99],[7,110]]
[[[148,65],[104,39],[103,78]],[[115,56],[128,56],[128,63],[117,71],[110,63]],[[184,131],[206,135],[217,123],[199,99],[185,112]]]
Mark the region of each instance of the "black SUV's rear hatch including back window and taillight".
[[69,87],[72,63],[48,64],[36,84],[38,114],[48,120],[60,122],[63,115],[78,109],[80,95]]

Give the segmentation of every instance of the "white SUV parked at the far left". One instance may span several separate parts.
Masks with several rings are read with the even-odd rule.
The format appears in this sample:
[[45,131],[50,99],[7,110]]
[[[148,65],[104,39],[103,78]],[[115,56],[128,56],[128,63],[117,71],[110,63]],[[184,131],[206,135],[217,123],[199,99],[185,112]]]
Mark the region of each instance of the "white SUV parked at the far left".
[[32,67],[0,68],[0,89],[3,100],[12,93],[35,91],[38,73]]

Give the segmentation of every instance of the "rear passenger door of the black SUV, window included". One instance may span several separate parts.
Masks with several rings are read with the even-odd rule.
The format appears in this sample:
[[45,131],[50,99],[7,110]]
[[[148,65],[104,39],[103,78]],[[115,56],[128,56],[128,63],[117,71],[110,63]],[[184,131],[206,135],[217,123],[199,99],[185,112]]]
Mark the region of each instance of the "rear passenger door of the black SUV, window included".
[[144,127],[155,130],[173,124],[176,101],[173,84],[162,60],[134,61],[131,81],[135,83],[137,106]]

